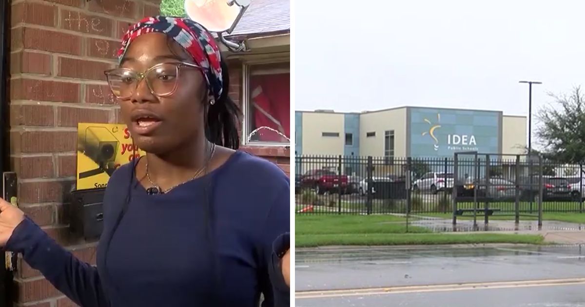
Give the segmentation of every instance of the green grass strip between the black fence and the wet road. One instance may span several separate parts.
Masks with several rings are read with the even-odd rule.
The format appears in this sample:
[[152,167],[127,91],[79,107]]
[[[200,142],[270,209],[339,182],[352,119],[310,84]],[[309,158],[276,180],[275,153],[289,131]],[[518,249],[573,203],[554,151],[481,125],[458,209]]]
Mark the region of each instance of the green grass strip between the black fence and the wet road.
[[408,227],[405,219],[391,215],[296,215],[295,246],[412,245],[470,243],[542,243],[541,236],[494,233],[431,233]]

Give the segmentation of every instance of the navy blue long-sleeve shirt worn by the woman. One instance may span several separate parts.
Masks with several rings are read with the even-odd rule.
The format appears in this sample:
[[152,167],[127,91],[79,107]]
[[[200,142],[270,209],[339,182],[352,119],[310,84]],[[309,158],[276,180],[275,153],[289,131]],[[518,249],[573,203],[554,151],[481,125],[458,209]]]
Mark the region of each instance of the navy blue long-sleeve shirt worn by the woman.
[[287,249],[290,231],[290,180],[280,168],[237,151],[207,176],[167,194],[130,185],[112,236],[131,176],[132,164],[123,165],[108,182],[97,267],[28,218],[6,249],[22,253],[81,306],[257,307],[260,293],[263,306],[290,305],[277,256]]

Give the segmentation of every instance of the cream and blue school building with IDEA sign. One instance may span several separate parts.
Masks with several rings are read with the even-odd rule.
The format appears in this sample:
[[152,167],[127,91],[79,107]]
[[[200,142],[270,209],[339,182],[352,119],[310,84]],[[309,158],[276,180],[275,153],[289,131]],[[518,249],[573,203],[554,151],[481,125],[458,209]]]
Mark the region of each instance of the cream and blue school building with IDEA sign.
[[[526,116],[501,111],[400,108],[295,112],[295,156],[453,157],[458,151],[524,154]],[[511,158],[511,157],[508,157]]]

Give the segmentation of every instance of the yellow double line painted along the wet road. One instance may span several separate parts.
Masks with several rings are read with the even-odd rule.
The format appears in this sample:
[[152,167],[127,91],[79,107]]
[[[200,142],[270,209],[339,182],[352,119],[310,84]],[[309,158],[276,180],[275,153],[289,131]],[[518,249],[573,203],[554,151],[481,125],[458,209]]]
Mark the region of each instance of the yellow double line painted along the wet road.
[[343,296],[369,296],[388,294],[407,294],[421,292],[463,291],[480,289],[526,288],[548,287],[555,285],[582,285],[585,278],[566,278],[559,280],[525,280],[525,281],[496,281],[496,282],[470,282],[462,284],[445,285],[418,285],[384,288],[339,289],[322,291],[297,291],[295,299],[311,298],[338,298]]

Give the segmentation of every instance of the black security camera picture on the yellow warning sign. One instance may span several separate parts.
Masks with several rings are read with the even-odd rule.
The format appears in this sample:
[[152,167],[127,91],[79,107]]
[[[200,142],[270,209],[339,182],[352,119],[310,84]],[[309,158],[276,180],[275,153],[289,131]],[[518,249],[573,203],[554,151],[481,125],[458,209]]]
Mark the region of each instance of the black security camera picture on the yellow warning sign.
[[85,136],[80,136],[77,142],[82,153],[98,164],[98,168],[80,173],[80,179],[102,173],[112,175],[115,170],[116,152],[118,152],[120,142],[108,128],[87,127]]

